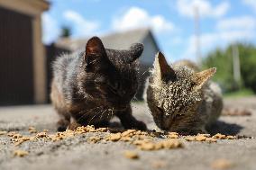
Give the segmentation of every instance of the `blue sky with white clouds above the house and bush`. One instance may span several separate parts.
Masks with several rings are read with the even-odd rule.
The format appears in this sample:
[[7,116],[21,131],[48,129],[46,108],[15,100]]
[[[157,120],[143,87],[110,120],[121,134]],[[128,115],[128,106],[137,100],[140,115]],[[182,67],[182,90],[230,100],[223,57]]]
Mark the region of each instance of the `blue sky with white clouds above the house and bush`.
[[44,43],[57,40],[63,25],[72,29],[74,39],[150,27],[169,61],[195,59],[196,6],[202,56],[236,41],[256,43],[256,0],[50,0],[50,4],[42,15]]

